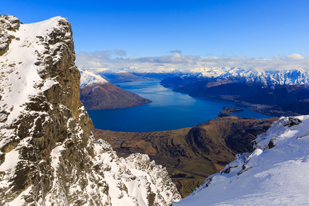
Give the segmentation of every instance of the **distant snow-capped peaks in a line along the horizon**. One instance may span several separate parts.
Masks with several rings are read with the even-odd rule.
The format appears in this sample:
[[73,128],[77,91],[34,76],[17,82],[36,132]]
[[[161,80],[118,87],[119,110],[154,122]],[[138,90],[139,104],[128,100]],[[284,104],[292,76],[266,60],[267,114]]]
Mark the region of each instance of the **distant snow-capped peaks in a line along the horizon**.
[[[170,76],[180,76],[181,78],[198,78],[199,80],[232,80],[233,82],[246,82],[248,84],[262,84],[264,87],[275,87],[276,85],[304,85],[309,86],[309,72],[304,69],[289,69],[264,71],[263,69],[244,69],[238,67],[211,67],[196,69],[175,69],[151,71],[135,68],[124,68],[115,70],[129,73],[169,73]],[[104,71],[104,73],[113,71]]]

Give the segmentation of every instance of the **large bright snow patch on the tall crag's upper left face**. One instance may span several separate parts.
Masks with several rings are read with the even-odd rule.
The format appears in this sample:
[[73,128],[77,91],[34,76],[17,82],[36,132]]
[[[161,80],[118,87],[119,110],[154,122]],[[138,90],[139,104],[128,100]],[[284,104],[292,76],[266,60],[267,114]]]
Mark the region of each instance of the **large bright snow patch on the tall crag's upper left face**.
[[[30,102],[30,97],[57,84],[55,80],[40,78],[38,70],[43,69],[43,66],[34,63],[38,61],[38,54],[45,51],[43,42],[39,41],[38,36],[48,36],[52,32],[48,28],[57,27],[59,19],[62,17],[54,17],[39,23],[21,24],[16,32],[9,31],[20,40],[13,39],[8,52],[0,56],[2,89],[0,108],[1,111],[10,113],[7,121],[0,123],[0,127],[11,124],[23,111],[25,102]],[[38,84],[43,84],[43,87],[38,88]]]

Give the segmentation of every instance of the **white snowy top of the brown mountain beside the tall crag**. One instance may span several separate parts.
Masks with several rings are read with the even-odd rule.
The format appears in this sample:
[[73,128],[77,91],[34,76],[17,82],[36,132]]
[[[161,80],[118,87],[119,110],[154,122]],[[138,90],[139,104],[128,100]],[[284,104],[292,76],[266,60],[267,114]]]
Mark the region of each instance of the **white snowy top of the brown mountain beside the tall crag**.
[[94,73],[84,67],[78,67],[80,71],[80,88],[86,86],[92,86],[93,84],[105,84],[108,81],[102,78],[102,76],[98,75],[98,73]]

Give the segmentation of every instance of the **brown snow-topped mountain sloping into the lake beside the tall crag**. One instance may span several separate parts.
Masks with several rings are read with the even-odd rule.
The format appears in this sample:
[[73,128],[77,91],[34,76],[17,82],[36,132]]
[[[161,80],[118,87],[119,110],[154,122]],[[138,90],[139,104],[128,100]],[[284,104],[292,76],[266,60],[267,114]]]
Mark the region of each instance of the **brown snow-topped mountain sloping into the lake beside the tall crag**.
[[125,108],[150,103],[136,93],[111,84],[102,76],[82,67],[80,70],[80,100],[87,110]]

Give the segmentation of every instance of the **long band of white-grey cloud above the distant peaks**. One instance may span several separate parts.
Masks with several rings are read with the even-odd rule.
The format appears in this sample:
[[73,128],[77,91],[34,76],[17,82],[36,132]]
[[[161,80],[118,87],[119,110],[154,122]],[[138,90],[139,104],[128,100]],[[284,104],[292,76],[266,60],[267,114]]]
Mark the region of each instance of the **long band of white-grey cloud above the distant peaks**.
[[[176,51],[176,50],[175,50]],[[290,54],[274,58],[239,58],[239,57],[201,57],[181,55],[174,52],[163,56],[124,58],[126,51],[120,49],[100,52],[80,52],[76,54],[76,65],[96,71],[132,70],[141,72],[190,71],[212,67],[242,67],[244,69],[306,69],[309,70],[309,56]],[[124,69],[126,68],[126,69]]]

